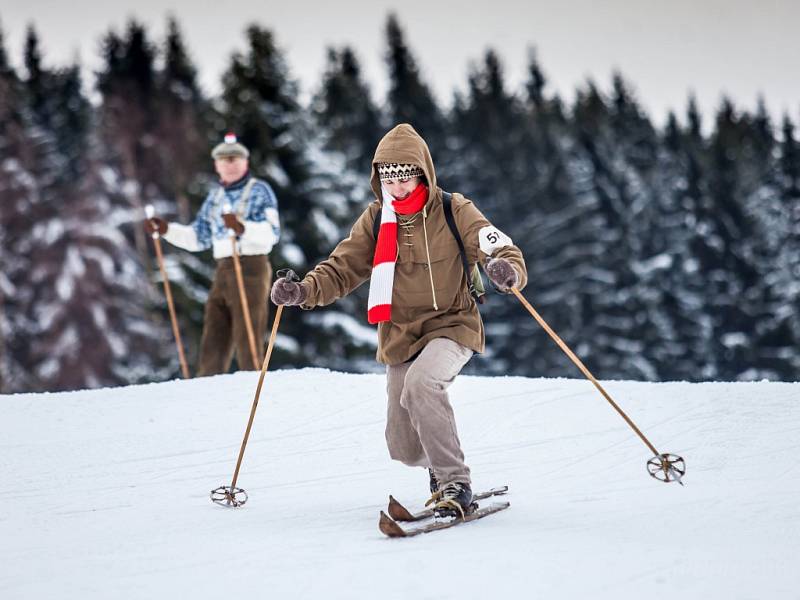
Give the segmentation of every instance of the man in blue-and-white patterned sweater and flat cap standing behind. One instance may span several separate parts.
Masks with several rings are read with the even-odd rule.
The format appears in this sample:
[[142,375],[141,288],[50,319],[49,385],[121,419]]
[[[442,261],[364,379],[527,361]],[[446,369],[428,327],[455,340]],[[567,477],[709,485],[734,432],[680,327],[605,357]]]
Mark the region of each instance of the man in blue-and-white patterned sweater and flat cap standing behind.
[[240,369],[260,367],[253,365],[251,357],[230,231],[236,234],[247,305],[258,352],[263,353],[272,280],[268,255],[280,237],[280,222],[275,193],[268,183],[250,174],[249,156],[236,136],[226,135],[211,152],[219,185],[209,190],[194,222],[180,225],[157,217],[145,220],[148,233],[157,231],[179,248],[190,252],[213,249],[217,267],[205,306],[200,376],[227,372],[234,350]]

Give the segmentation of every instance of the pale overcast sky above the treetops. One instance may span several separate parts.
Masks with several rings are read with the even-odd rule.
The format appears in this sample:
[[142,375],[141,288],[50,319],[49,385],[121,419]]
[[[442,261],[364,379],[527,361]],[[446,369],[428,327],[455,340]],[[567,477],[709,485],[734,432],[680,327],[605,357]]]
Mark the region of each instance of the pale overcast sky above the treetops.
[[588,77],[608,89],[618,69],[660,123],[669,109],[683,115],[693,91],[710,115],[722,94],[752,109],[762,94],[776,117],[800,120],[800,2],[792,0],[3,0],[0,24],[16,65],[25,28],[35,24],[48,64],[80,57],[99,66],[104,31],[143,21],[161,40],[174,14],[204,89],[219,89],[230,55],[244,50],[245,26],[271,28],[307,94],[316,88],[329,45],[350,44],[374,95],[386,90],[386,16],[394,11],[437,96],[449,103],[465,85],[471,61],[492,47],[517,89],[535,48],[550,89],[571,99]]

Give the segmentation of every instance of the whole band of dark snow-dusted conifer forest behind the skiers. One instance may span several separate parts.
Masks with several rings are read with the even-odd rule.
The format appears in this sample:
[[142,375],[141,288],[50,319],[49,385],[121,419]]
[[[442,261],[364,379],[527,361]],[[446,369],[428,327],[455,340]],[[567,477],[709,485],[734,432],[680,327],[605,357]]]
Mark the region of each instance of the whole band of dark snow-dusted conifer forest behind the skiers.
[[[44,55],[33,26],[12,66],[0,32],[0,393],[180,377],[144,207],[191,222],[226,132],[277,195],[273,268],[302,276],[373,199],[375,146],[401,122],[439,185],[521,248],[526,298],[599,379],[797,378],[800,102],[776,120],[725,99],[701,115],[689,96],[657,125],[624,73],[567,102],[534,53],[511,89],[488,50],[442,103],[391,15],[385,99],[348,46],[304,96],[275,31],[242,36],[209,95],[174,19],[164,39],[137,21],[109,30],[89,74]],[[165,256],[194,368],[214,260]],[[270,368],[380,371],[367,287],[287,309]],[[513,295],[489,291],[480,311],[487,352],[466,372],[580,377]]]

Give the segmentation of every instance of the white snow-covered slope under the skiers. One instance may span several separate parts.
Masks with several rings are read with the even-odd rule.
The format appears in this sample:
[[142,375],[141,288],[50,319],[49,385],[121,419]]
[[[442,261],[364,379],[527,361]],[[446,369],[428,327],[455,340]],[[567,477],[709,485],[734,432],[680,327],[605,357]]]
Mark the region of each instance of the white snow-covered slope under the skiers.
[[585,380],[461,377],[452,398],[476,489],[507,511],[405,540],[389,492],[384,379],[276,371],[239,484],[256,373],[0,396],[0,598],[800,598],[800,384],[606,388],[685,487]]

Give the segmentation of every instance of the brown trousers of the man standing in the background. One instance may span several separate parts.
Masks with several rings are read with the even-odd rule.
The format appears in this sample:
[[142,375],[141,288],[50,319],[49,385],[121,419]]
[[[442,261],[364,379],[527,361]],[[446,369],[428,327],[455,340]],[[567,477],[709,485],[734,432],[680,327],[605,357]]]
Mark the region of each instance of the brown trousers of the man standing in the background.
[[[263,254],[240,256],[239,261],[242,265],[247,305],[250,308],[250,319],[253,322],[253,334],[260,360],[264,355],[272,266],[267,256]],[[260,364],[253,365],[233,259],[223,258],[217,261],[214,282],[211,284],[206,302],[198,376],[227,373],[234,350],[240,369],[261,368]]]

